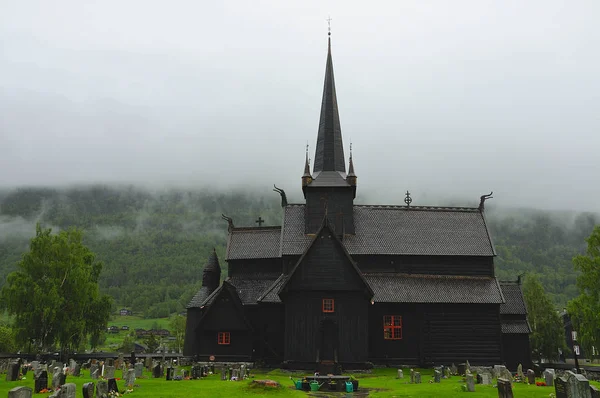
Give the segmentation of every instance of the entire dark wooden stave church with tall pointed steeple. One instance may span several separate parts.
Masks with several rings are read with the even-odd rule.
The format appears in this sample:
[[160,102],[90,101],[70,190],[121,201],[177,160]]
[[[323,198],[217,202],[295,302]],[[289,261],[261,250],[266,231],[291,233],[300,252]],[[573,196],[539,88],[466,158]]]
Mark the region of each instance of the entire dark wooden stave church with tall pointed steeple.
[[[373,364],[530,366],[521,287],[495,275],[479,207],[354,204],[328,39],[314,162],[304,203],[280,226],[228,220],[228,275],[216,253],[187,308],[184,355],[290,369]],[[371,165],[374,167],[373,165]],[[301,168],[299,167],[301,170]]]

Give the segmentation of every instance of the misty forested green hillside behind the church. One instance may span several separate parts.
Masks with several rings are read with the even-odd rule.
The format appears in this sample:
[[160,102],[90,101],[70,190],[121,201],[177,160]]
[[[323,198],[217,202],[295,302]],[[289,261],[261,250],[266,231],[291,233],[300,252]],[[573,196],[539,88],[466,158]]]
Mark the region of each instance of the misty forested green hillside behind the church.
[[[182,311],[201,283],[202,266],[216,248],[226,275],[227,224],[279,225],[280,200],[244,191],[88,186],[21,188],[0,192],[0,286],[15,269],[35,233],[35,223],[83,228],[86,244],[104,262],[101,289],[115,303],[148,316]],[[576,295],[571,258],[600,222],[595,214],[502,210],[490,206],[488,223],[498,252],[501,278],[540,275],[555,303]]]

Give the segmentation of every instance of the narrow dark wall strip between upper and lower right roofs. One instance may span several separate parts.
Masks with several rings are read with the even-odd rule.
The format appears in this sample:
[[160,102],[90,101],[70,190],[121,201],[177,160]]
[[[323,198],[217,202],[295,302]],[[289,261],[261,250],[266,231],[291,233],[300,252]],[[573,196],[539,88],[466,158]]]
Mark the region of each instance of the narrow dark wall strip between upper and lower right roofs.
[[489,256],[354,255],[352,257],[364,273],[494,276],[494,260]]

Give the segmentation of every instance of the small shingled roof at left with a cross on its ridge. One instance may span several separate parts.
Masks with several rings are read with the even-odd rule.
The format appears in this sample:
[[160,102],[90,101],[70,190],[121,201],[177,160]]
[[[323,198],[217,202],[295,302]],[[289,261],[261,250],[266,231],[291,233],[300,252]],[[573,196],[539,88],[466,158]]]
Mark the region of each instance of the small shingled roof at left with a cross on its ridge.
[[227,260],[280,257],[281,227],[234,228],[227,241]]

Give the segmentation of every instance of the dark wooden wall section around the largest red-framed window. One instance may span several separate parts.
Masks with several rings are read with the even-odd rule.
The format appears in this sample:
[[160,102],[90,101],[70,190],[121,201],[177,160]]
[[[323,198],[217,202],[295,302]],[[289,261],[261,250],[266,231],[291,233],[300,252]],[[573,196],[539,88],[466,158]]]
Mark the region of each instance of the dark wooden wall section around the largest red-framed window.
[[[415,304],[375,303],[369,306],[369,361],[376,364],[418,364],[423,322]],[[386,340],[383,317],[402,317],[402,339]]]

